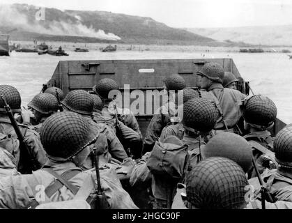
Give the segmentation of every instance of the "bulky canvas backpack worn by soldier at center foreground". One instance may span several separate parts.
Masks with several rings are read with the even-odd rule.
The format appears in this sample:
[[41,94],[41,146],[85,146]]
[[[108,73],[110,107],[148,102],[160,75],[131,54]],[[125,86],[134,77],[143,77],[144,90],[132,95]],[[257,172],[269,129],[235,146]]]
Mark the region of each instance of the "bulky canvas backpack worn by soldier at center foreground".
[[187,145],[177,137],[170,136],[163,142],[159,140],[155,142],[146,165],[153,175],[181,179],[185,173],[189,156]]

